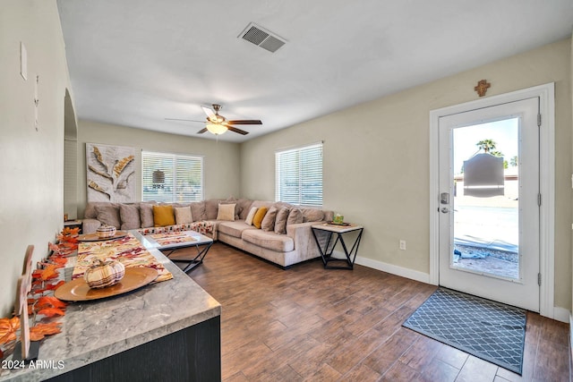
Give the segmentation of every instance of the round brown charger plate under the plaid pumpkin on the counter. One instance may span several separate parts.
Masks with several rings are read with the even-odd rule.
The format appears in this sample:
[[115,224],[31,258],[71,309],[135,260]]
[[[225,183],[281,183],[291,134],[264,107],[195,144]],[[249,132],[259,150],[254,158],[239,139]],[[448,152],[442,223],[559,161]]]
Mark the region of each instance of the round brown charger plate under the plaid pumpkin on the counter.
[[54,295],[64,301],[89,301],[131,292],[150,284],[158,276],[158,271],[150,267],[125,268],[125,276],[115,285],[106,288],[91,289],[86,281],[76,278],[56,289]]

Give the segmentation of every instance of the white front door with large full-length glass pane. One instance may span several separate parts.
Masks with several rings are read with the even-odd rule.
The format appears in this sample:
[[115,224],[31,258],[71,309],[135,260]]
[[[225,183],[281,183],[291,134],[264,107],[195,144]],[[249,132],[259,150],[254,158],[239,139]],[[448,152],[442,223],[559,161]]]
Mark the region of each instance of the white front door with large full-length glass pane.
[[439,120],[439,284],[539,311],[539,98]]

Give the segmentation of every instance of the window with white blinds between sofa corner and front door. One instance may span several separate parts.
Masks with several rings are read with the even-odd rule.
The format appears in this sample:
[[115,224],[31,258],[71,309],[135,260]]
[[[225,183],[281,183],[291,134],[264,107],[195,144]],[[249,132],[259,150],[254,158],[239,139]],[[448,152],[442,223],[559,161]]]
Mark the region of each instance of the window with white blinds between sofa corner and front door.
[[322,142],[275,153],[275,199],[322,206]]

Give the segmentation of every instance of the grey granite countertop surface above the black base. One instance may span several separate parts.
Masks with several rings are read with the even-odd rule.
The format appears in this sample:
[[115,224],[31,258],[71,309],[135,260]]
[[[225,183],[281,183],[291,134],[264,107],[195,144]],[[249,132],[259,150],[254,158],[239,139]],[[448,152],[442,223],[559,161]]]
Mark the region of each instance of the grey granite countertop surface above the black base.
[[[131,293],[68,305],[62,333],[40,343],[35,369],[0,369],[0,381],[40,381],[220,316],[221,306],[158,250],[174,276]],[[4,366],[4,365],[2,365]]]

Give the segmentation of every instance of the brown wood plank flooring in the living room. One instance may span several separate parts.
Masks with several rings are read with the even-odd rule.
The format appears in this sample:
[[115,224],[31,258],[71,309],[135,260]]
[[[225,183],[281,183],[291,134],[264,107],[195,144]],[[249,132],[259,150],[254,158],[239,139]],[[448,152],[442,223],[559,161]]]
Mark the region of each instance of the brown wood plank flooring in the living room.
[[223,243],[189,276],[223,306],[225,382],[569,381],[569,325],[535,313],[520,377],[401,327],[429,284],[320,261],[282,270]]

